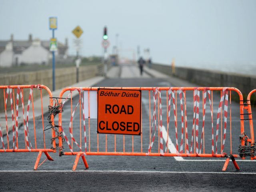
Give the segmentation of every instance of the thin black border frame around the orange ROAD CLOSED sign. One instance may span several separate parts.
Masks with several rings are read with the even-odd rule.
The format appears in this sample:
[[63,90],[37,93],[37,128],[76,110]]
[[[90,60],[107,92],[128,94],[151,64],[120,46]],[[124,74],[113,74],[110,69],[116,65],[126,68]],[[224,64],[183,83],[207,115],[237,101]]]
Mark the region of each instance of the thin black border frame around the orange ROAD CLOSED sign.
[[[100,90],[122,90],[122,91],[139,91],[140,92],[140,124],[139,124],[139,130],[138,130],[138,134],[124,134],[124,133],[108,133],[108,132],[99,132],[99,91]],[[132,89],[109,89],[109,88],[98,88],[98,96],[97,96],[97,134],[116,134],[116,135],[134,135],[134,136],[141,136],[142,134],[142,130],[141,130],[141,126],[142,126],[142,118],[141,118],[141,115],[142,115],[142,94],[141,94],[141,90],[132,90]]]

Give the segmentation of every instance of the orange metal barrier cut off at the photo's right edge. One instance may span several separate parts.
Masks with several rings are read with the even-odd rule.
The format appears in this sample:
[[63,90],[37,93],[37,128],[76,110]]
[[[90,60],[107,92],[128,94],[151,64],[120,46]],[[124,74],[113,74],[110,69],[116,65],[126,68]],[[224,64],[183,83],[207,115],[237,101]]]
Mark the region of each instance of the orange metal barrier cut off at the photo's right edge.
[[251,96],[253,93],[256,92],[256,89],[252,90],[248,96],[247,96],[247,103],[244,103],[244,109],[248,111],[247,115],[248,115],[248,119],[249,123],[250,123],[250,138],[248,135],[246,135],[246,133],[244,132],[243,134],[243,140],[245,142],[245,146],[247,146],[248,148],[246,148],[245,150],[248,151],[248,155],[251,156],[251,159],[256,159],[255,157],[255,140],[254,140],[254,128],[253,128],[253,119],[252,119],[252,107],[251,107]]

